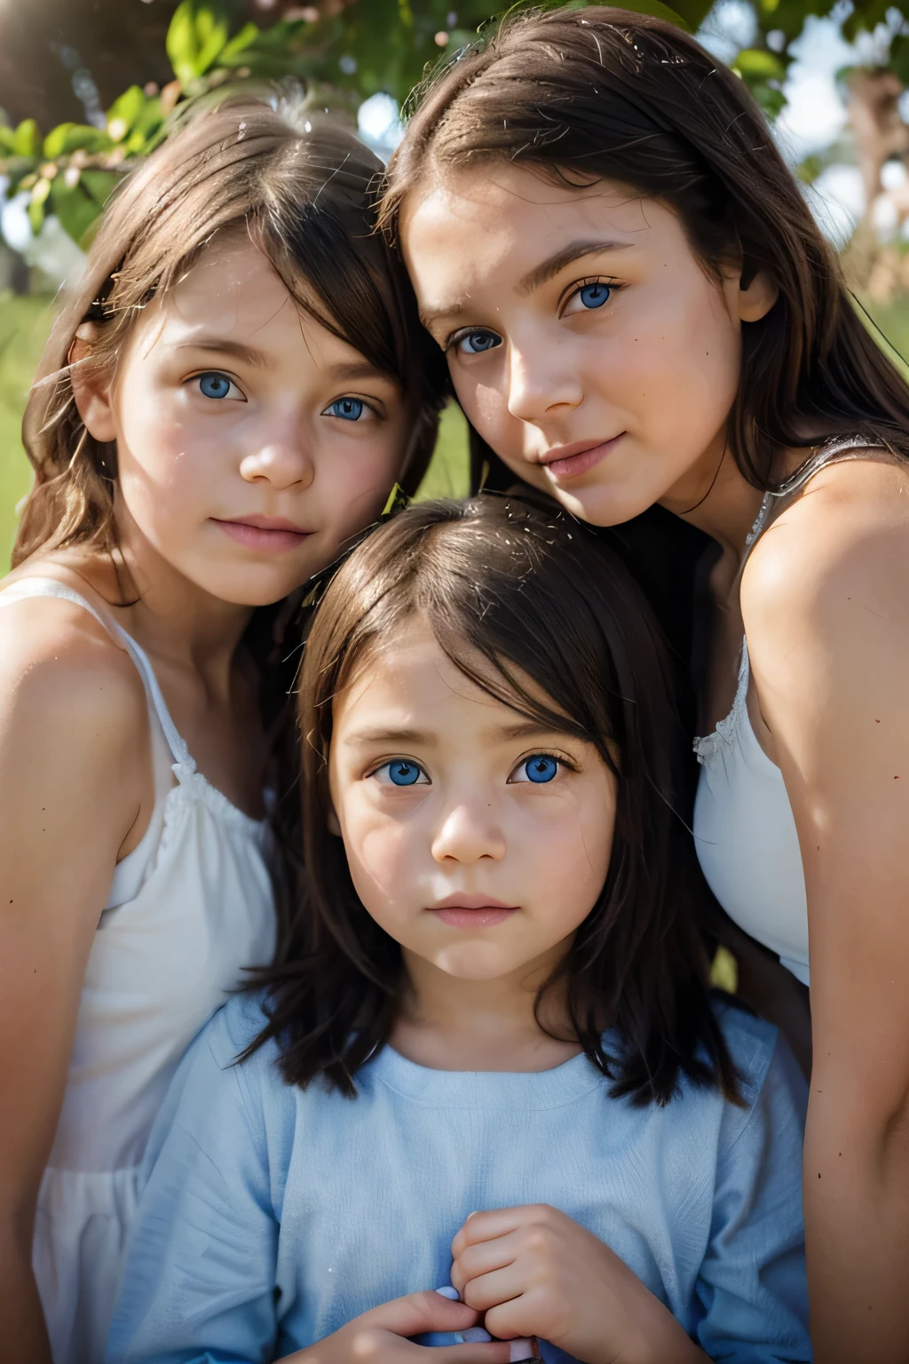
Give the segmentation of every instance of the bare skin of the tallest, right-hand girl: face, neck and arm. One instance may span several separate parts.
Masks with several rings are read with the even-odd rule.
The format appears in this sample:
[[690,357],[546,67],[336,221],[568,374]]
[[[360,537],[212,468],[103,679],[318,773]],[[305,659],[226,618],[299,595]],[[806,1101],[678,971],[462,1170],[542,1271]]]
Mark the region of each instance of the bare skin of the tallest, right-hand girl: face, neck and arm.
[[[805,877],[815,1357],[909,1360],[905,464],[829,465],[745,563],[760,492],[725,431],[769,280],[705,266],[671,209],[621,186],[571,190],[493,162],[429,162],[402,244],[458,398],[518,477],[593,524],[661,503],[717,542],[699,731],[730,709],[747,633],[748,716],[781,771]],[[807,453],[778,451],[774,476]],[[737,951],[748,959],[744,936]],[[778,1022],[797,1007],[804,1033],[795,989],[770,981],[759,998]]]

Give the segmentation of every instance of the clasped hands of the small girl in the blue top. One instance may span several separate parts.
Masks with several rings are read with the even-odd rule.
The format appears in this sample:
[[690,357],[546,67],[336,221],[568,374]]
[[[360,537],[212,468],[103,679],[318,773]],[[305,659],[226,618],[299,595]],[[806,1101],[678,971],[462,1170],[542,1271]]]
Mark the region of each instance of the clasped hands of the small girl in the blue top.
[[[349,1322],[285,1364],[510,1364],[537,1335],[581,1364],[696,1364],[706,1356],[619,1256],[546,1204],[473,1213],[451,1243],[462,1301],[412,1293]],[[427,1348],[422,1331],[480,1320],[491,1344]],[[428,1353],[431,1349],[431,1353]],[[521,1359],[526,1348],[519,1349]]]

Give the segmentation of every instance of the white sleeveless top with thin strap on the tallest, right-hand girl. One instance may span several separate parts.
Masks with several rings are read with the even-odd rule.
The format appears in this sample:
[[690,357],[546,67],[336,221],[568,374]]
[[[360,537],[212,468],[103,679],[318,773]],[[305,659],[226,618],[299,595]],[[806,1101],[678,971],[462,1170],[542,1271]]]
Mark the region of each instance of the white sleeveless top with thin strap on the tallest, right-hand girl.
[[[766,529],[774,501],[795,496],[827,464],[889,458],[867,439],[822,446],[778,492],[767,492],[745,559]],[[775,952],[808,985],[808,900],[796,821],[782,772],[758,743],[748,716],[748,641],[741,641],[732,711],[695,739],[700,764],[694,812],[698,861],[710,889],[739,928]]]

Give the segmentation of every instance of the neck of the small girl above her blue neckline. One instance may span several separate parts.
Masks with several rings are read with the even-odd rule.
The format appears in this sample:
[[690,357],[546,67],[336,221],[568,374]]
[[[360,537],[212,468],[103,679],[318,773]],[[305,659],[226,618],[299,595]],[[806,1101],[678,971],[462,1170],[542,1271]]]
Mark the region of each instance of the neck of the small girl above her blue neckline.
[[[492,979],[462,979],[403,949],[407,988],[391,1042],[440,1071],[546,1071],[579,1052],[570,1038],[564,985],[537,992],[568,944]],[[541,1027],[542,1023],[542,1027]],[[549,1034],[555,1034],[551,1037]]]

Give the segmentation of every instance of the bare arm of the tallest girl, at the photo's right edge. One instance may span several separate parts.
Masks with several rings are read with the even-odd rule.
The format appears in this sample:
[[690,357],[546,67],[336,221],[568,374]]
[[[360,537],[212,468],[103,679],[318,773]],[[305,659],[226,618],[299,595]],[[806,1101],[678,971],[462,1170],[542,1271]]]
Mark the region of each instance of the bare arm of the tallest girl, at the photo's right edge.
[[909,514],[898,479],[827,471],[770,529],[743,584],[808,893],[804,1211],[818,1364],[909,1360]]

